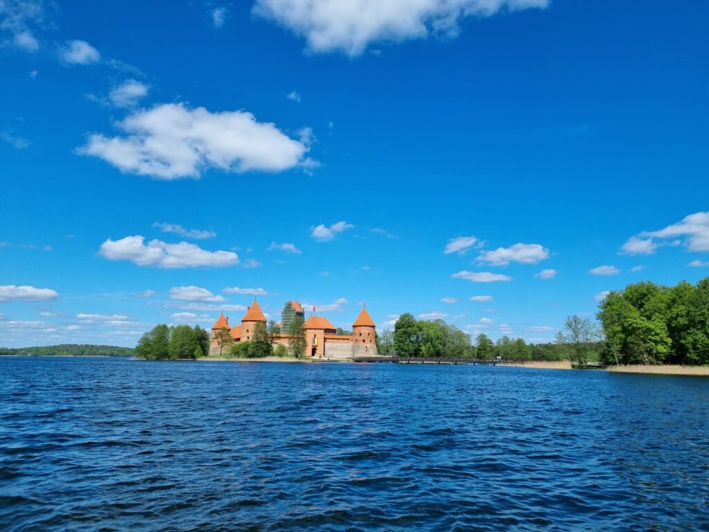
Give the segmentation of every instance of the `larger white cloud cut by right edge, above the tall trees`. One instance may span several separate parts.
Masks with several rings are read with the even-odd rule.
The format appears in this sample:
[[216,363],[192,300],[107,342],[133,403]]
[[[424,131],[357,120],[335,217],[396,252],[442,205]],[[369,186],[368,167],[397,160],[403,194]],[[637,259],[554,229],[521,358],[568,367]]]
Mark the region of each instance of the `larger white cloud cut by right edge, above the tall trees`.
[[629,255],[649,255],[661,245],[674,245],[677,238],[683,238],[690,251],[709,251],[709,212],[690,214],[659,231],[643,231],[628,238],[620,249]]

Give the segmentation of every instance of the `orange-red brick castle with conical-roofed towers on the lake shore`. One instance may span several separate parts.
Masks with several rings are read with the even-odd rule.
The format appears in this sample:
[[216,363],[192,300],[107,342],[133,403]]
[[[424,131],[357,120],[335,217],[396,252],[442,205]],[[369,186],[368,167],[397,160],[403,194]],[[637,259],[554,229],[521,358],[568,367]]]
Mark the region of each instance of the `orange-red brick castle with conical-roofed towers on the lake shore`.
[[[337,328],[324,316],[313,315],[305,320],[303,326],[306,331],[306,356],[325,358],[353,358],[376,355],[376,326],[369,317],[364,307],[352,323],[352,334],[337,334]],[[305,318],[303,306],[298,301],[288,301],[281,311],[281,331],[288,331],[291,322],[299,316]],[[235,342],[251,340],[257,323],[266,324],[266,316],[261,311],[257,301],[246,310],[239,325],[230,326],[229,318],[224,313],[217,318],[212,326],[210,354],[219,352],[216,333],[223,328],[229,330]],[[291,337],[288,333],[281,332],[274,336],[274,343],[288,345]]]

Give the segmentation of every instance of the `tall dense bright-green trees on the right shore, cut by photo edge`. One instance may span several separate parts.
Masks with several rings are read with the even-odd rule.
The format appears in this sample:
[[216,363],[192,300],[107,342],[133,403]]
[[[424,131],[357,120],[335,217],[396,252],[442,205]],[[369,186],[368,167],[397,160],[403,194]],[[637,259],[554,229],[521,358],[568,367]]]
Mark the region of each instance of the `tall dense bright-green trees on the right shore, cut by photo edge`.
[[601,301],[597,317],[608,364],[709,364],[709,277],[629,284]]

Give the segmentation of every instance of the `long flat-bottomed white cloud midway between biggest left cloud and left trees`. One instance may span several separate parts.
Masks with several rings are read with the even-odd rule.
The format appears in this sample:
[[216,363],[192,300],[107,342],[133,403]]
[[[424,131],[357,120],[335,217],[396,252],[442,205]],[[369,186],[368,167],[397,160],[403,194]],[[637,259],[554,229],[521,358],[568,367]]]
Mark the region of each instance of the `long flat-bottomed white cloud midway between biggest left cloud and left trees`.
[[110,238],[101,244],[99,255],[110,260],[130,260],[138,266],[158,268],[226,267],[239,263],[239,256],[230,251],[206,251],[198,245],[180,242],[168,244],[162,240],[143,243],[142,235]]

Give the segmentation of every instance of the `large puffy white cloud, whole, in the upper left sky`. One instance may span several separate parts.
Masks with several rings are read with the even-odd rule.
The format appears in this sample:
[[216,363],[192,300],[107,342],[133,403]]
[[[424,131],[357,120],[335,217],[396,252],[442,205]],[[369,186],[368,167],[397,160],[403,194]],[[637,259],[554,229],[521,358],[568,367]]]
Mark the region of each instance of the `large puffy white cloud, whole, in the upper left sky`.
[[89,135],[77,153],[104,159],[121,172],[157,179],[199,178],[209,168],[281,172],[317,165],[305,158],[309,135],[289,138],[246,111],[212,113],[203,107],[160,104],[135,111],[116,126],[126,135]]

